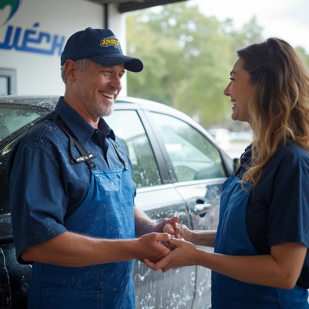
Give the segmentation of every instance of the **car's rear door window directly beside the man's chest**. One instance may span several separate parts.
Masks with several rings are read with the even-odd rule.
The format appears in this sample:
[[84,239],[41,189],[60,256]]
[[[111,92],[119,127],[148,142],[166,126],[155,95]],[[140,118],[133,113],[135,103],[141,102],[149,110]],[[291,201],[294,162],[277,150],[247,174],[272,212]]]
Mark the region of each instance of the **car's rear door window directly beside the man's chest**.
[[154,153],[137,112],[118,110],[105,120],[125,145],[137,188],[162,184]]

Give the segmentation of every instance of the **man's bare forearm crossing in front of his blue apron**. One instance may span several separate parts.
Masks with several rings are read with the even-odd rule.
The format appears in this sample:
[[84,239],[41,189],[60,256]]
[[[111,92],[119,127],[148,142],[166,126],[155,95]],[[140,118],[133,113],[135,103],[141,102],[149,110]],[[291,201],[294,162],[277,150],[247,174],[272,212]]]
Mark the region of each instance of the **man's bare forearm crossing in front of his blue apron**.
[[132,260],[136,257],[138,239],[99,239],[64,232],[21,254],[25,261],[66,267]]

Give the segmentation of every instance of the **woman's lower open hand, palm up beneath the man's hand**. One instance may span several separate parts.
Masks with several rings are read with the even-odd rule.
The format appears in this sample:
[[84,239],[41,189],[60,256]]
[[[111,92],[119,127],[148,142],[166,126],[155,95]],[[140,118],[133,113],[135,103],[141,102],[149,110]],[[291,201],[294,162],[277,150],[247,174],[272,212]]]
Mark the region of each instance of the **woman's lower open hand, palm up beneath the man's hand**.
[[169,242],[176,247],[171,253],[167,254],[157,263],[152,263],[144,259],[145,264],[153,270],[161,269],[163,273],[172,268],[197,265],[197,249],[193,243],[184,239],[172,238]]

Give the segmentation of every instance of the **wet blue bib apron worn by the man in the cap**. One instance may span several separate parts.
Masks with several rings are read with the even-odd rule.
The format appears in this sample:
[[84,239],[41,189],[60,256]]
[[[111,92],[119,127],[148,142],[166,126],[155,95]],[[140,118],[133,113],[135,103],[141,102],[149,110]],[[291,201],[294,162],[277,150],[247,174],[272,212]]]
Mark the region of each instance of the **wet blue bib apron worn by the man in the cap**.
[[[59,121],[56,123],[70,135]],[[69,139],[71,146],[78,143],[71,135]],[[82,144],[78,145],[81,156],[72,156],[71,162],[88,164],[91,183],[86,199],[64,221],[64,226],[69,231],[91,237],[134,238],[132,177],[116,143],[111,139],[110,142],[124,167],[98,171],[91,160],[94,155],[87,153]],[[35,262],[29,285],[28,308],[133,309],[133,269],[134,260],[85,267]]]

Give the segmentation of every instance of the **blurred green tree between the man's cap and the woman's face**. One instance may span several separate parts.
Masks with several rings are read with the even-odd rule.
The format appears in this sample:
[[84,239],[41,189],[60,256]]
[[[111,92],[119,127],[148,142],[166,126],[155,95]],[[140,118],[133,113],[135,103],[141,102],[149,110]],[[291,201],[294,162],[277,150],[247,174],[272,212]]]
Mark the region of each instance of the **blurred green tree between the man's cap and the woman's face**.
[[229,83],[235,50],[260,40],[252,18],[240,31],[232,21],[206,17],[186,2],[127,16],[128,54],[144,62],[139,74],[128,72],[131,96],[159,101],[194,116],[202,125],[227,124]]

